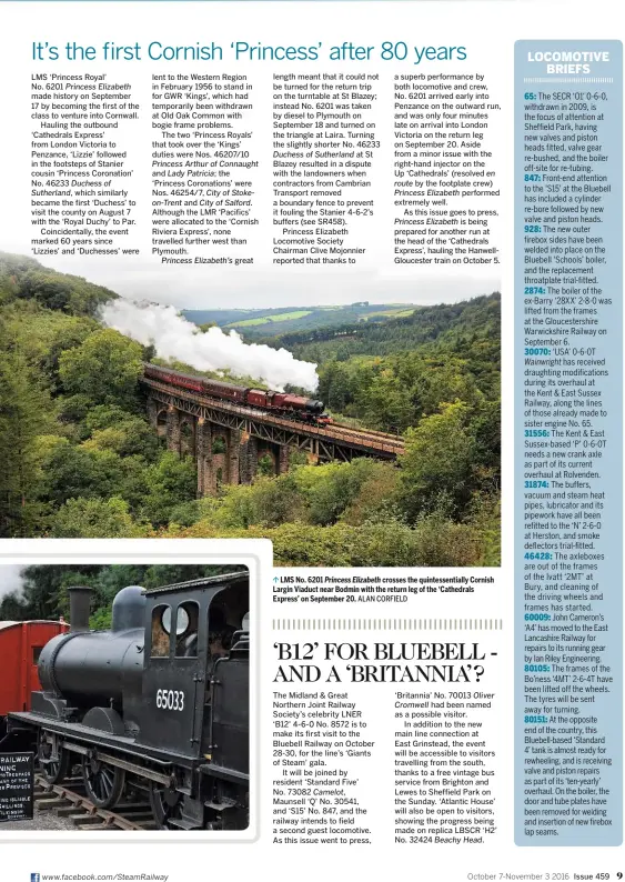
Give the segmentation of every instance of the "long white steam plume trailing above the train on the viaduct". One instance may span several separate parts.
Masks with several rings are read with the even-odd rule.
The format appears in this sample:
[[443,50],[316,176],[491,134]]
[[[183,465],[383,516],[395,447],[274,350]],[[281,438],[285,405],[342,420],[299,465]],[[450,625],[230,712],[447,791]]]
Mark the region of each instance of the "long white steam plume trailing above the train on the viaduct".
[[143,345],[152,344],[161,359],[178,359],[200,371],[230,371],[234,377],[253,377],[282,391],[286,383],[313,392],[319,378],[316,364],[299,361],[286,349],[244,343],[236,331],[224,333],[209,328],[202,333],[174,307],[145,301],[111,300],[101,311],[109,328]]

